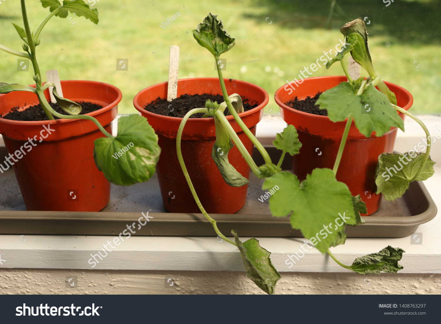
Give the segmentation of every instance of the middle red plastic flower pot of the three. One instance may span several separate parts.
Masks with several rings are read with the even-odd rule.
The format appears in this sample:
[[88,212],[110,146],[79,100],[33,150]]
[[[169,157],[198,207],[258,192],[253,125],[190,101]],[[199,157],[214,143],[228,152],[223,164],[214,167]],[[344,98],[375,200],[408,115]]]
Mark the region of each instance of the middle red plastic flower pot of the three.
[[[242,98],[258,102],[258,106],[239,116],[253,134],[256,124],[263,117],[263,108],[269,101],[268,94],[261,87],[239,80],[224,79],[228,94],[237,93]],[[167,98],[167,82],[158,83],[139,92],[133,104],[146,117],[159,137],[161,155],[157,164],[157,175],[161,188],[162,202],[169,212],[200,213],[191,194],[187,181],[179,165],[176,154],[176,135],[182,118],[167,117],[151,113],[144,109],[145,105],[156,98]],[[178,97],[182,94],[222,94],[219,79],[192,78],[178,80]],[[242,132],[233,116],[228,116],[239,139],[250,154],[253,143]],[[211,158],[216,132],[213,117],[190,118],[182,135],[182,155],[202,206],[209,213],[233,214],[239,211],[247,199],[248,185],[230,187],[224,181],[216,164]],[[249,178],[250,167],[233,147],[228,153],[228,160],[243,177]]]

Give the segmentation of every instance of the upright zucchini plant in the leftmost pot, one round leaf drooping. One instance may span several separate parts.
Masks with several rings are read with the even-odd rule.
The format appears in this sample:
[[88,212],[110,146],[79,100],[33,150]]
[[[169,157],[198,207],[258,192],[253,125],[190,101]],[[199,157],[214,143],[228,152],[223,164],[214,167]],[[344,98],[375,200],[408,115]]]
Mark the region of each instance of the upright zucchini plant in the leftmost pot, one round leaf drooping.
[[[49,120],[54,116],[65,119],[87,119],[97,125],[105,137],[100,137],[94,141],[95,163],[102,171],[108,181],[116,185],[133,185],[137,182],[143,182],[150,179],[155,173],[156,163],[159,159],[161,149],[158,146],[158,138],[153,128],[149,125],[146,118],[139,115],[130,115],[121,117],[118,121],[118,136],[114,137],[101,126],[93,117],[80,115],[81,105],[66,98],[61,98],[56,86],[51,82],[42,83],[41,72],[37,62],[36,47],[40,45],[40,34],[48,21],[57,16],[67,18],[71,12],[77,16],[85,17],[92,23],[97,24],[98,11],[91,9],[83,0],[63,0],[60,4],[58,0],[40,0],[43,8],[49,8],[50,14],[43,20],[37,30],[33,33],[30,30],[28,17],[26,13],[25,0],[21,0],[22,17],[24,28],[13,23],[19,37],[24,42],[22,48],[24,52],[0,45],[0,49],[17,57],[24,57],[32,62],[34,68],[35,88],[21,84],[7,84],[0,82],[0,93],[6,94],[12,91],[30,91],[37,95],[38,101]],[[53,87],[53,94],[56,102],[69,115],[57,113],[49,105],[44,91]],[[122,157],[112,158],[116,152],[124,150],[128,144],[133,143],[130,151]]]

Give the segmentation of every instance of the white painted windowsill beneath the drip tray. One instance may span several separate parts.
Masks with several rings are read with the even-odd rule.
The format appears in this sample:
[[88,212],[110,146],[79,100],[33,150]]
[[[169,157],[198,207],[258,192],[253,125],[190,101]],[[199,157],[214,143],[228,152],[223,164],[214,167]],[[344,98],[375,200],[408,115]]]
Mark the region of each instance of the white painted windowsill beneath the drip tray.
[[[441,117],[419,116],[431,134]],[[277,116],[265,116],[259,123],[257,136],[269,146],[285,123]],[[396,151],[408,151],[424,135],[418,124],[409,118],[406,133],[399,131]],[[3,140],[0,139],[0,145]],[[432,146],[431,157],[438,162],[433,177],[424,181],[435,204],[441,206],[441,140]],[[422,245],[411,245],[411,238],[348,238],[346,244],[332,249],[343,263],[351,264],[359,256],[378,252],[388,245],[406,251],[400,264],[402,273],[441,273],[441,215],[420,225]],[[214,233],[214,232],[213,232]],[[113,236],[26,235],[22,243],[19,235],[0,235],[0,267],[45,269],[91,269],[90,253],[95,254]],[[258,237],[257,237],[258,238]],[[291,269],[284,263],[287,254],[293,254],[302,243],[301,238],[258,238],[260,244],[272,252],[271,259],[280,272],[348,272],[329,256],[312,249]],[[239,251],[226,242],[213,237],[130,237],[93,269],[106,270],[174,270],[174,271],[243,271]]]

